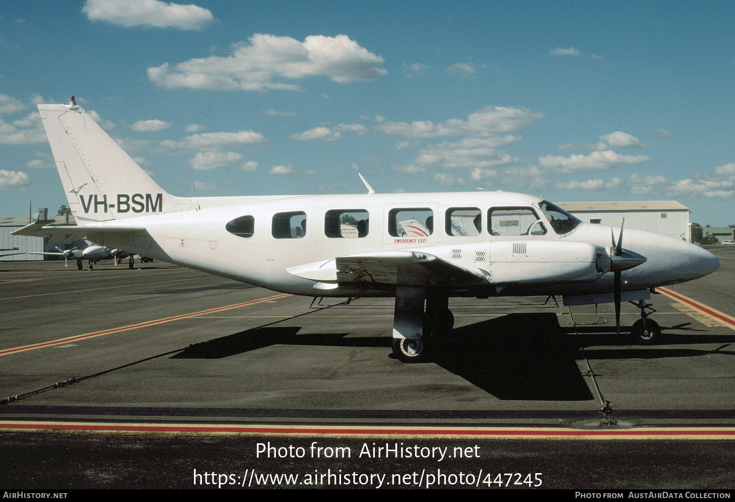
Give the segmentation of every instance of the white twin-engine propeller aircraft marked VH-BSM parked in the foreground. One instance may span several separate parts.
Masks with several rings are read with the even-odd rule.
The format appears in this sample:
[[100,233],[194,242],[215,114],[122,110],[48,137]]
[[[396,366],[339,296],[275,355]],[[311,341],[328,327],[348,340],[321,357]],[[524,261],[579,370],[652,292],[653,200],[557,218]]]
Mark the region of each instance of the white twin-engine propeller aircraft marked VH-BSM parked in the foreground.
[[376,194],[365,182],[368,194],[176,197],[73,96],[38,109],[77,225],[44,220],[15,233],[86,238],[284,293],[395,297],[392,347],[404,362],[451,330],[449,297],[614,302],[618,333],[620,303],[635,301],[632,331],[650,339],[660,332],[650,291],[720,266],[685,241],[630,229],[623,238],[622,227],[511,192]]

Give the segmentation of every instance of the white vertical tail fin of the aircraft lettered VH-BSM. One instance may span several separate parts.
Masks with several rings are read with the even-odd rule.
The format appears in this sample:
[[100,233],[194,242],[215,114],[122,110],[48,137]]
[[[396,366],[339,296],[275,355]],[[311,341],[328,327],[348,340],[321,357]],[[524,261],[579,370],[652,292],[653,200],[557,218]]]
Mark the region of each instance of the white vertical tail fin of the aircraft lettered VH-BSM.
[[38,105],[69,208],[80,224],[168,212],[173,197],[71,97]]

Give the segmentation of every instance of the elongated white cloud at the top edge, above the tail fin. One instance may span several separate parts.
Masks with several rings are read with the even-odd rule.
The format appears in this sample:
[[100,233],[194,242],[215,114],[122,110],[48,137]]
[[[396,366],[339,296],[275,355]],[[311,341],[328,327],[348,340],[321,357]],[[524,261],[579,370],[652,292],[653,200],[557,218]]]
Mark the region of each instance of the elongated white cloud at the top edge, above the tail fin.
[[214,21],[212,12],[202,7],[158,0],[87,0],[82,12],[90,21],[107,21],[125,28],[200,30]]

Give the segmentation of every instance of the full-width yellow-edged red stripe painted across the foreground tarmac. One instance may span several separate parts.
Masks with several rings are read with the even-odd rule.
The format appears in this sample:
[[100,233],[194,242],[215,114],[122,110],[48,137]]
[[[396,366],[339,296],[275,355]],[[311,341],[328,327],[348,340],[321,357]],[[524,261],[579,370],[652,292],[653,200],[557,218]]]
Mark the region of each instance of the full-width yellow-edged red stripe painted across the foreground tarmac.
[[0,421],[0,431],[83,431],[106,433],[157,432],[168,434],[273,434],[284,437],[497,437],[525,439],[732,440],[733,427],[641,427],[634,429],[570,429],[565,427],[456,427],[456,426],[318,426],[202,423],[101,423]]

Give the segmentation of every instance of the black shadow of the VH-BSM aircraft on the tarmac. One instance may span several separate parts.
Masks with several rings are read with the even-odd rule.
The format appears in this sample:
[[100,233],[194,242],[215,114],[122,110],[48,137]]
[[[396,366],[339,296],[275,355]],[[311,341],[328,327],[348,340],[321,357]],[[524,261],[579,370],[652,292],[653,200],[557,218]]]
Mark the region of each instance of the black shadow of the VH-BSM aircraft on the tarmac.
[[[664,327],[686,330],[685,325]],[[390,348],[390,337],[348,337],[351,333],[298,335],[301,327],[257,327],[196,343],[171,356],[175,359],[220,359],[272,345]],[[735,354],[723,351],[734,336],[664,333],[653,345],[610,327],[559,325],[555,313],[511,313],[468,324],[429,340],[435,363],[503,400],[589,401],[595,399],[577,360],[650,359]],[[682,344],[724,343],[714,350],[686,349]],[[670,347],[677,345],[678,347]],[[581,347],[603,346],[600,349]],[[620,346],[620,348],[614,348]],[[389,354],[388,357],[395,357]]]

